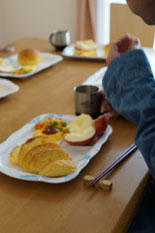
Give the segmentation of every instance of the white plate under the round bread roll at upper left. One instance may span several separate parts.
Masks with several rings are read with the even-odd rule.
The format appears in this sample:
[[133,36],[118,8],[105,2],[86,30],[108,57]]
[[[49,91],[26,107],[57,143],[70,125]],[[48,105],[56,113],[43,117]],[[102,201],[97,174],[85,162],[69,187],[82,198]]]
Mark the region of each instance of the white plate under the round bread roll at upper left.
[[[36,70],[33,72],[29,72],[26,74],[11,74],[11,73],[2,73],[0,72],[1,77],[12,77],[12,78],[27,78],[30,77],[44,69],[49,68],[50,66],[62,61],[62,56],[56,55],[56,54],[50,54],[50,53],[41,53],[42,60],[39,64],[36,65]],[[19,69],[21,66],[19,66],[17,61],[17,54],[10,56],[6,58],[6,62],[13,66],[14,69]]]

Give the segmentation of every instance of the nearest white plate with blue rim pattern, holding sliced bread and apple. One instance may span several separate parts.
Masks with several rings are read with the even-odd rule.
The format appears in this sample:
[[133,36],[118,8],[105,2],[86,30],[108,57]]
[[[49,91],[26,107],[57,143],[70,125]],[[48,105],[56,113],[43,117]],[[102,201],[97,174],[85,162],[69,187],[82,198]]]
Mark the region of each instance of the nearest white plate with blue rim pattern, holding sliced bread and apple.
[[44,114],[35,117],[32,121],[28,122],[21,129],[13,133],[6,141],[0,144],[0,172],[27,181],[40,181],[46,183],[64,183],[68,182],[81,172],[81,170],[87,166],[89,161],[99,152],[102,145],[107,141],[108,137],[112,133],[112,127],[108,125],[104,135],[100,137],[93,146],[71,146],[64,140],[61,140],[60,144],[71,155],[73,161],[77,164],[77,171],[67,176],[59,178],[51,178],[45,176],[39,176],[31,173],[24,172],[19,166],[11,164],[9,161],[9,154],[16,145],[24,143],[28,138],[34,135],[34,124],[38,121],[43,121],[48,117],[61,118],[65,122],[70,123],[76,116],[73,115],[58,115],[58,114]]

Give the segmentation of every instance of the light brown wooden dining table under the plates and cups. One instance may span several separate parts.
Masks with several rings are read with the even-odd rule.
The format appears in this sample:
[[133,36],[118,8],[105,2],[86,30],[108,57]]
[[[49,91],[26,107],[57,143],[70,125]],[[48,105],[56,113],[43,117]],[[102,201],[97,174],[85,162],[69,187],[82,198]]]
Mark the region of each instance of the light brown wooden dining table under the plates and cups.
[[[25,38],[15,53],[35,47],[55,52],[48,40]],[[60,53],[58,53],[60,54]],[[0,54],[8,56],[10,54]],[[73,87],[104,66],[103,62],[63,59],[26,79],[11,79],[17,93],[0,99],[0,142],[37,115],[74,114]],[[0,228],[3,233],[125,233],[145,191],[149,172],[137,150],[108,177],[111,192],[87,188],[86,174],[98,175],[134,142],[136,125],[111,119],[113,133],[74,180],[63,184],[27,182],[0,174]]]

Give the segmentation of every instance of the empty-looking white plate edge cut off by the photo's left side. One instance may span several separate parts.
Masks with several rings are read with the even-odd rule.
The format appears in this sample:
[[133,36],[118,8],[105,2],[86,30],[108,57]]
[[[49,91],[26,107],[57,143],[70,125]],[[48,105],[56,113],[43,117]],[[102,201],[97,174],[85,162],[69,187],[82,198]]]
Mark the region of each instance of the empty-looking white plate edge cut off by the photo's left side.
[[13,82],[0,78],[0,98],[10,95],[19,90],[19,86]]

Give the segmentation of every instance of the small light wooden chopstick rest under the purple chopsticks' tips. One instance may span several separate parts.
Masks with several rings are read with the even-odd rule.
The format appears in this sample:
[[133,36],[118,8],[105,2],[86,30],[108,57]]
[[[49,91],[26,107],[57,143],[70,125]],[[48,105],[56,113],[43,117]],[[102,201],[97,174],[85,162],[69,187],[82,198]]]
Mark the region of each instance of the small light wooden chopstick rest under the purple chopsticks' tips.
[[[85,175],[83,180],[84,180],[84,184],[88,185],[92,180],[94,180],[94,176]],[[100,187],[101,189],[105,191],[111,191],[112,181],[111,180],[99,180],[99,182],[97,182],[95,186]]]

